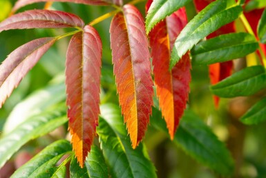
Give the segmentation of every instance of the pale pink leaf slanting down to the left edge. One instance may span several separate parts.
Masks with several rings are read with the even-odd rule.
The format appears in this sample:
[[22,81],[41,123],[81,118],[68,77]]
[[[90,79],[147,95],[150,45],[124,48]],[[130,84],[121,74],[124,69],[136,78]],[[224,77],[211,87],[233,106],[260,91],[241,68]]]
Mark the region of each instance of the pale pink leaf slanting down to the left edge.
[[21,79],[56,41],[54,37],[35,39],[10,53],[0,65],[0,108]]

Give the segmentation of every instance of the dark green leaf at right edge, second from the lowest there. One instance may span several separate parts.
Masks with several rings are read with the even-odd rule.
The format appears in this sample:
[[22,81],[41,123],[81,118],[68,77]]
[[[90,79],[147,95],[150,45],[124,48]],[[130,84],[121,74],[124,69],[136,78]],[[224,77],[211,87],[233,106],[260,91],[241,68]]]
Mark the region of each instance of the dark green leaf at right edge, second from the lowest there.
[[263,66],[249,66],[211,86],[211,92],[224,98],[250,96],[266,87],[266,73]]

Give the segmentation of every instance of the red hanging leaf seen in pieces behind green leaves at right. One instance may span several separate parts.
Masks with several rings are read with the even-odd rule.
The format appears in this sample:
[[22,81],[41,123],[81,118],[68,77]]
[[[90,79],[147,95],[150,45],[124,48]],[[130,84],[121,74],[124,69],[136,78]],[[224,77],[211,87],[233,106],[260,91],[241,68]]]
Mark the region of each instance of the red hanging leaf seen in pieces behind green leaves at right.
[[[198,12],[202,9],[204,9],[206,6],[209,5],[213,0],[194,0],[196,9]],[[218,35],[227,34],[227,33],[234,33],[235,27],[234,22],[231,22],[230,24],[227,24],[225,26],[222,26],[215,32],[211,33],[207,36],[207,39],[216,37]],[[231,71],[233,69],[233,62],[227,61],[222,63],[216,63],[216,64],[210,64],[209,65],[209,78],[211,80],[211,84],[216,84],[220,82],[221,80],[229,77],[231,75]],[[220,98],[218,96],[213,96],[214,105],[216,108],[219,106],[219,100]]]

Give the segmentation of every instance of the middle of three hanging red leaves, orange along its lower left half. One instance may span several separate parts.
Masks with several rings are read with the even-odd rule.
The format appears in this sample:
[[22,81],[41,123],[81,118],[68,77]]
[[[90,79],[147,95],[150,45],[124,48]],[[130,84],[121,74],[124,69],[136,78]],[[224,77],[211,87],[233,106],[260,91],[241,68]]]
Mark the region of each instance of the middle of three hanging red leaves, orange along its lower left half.
[[153,105],[148,39],[140,12],[125,5],[111,21],[111,49],[117,93],[132,146],[144,136]]

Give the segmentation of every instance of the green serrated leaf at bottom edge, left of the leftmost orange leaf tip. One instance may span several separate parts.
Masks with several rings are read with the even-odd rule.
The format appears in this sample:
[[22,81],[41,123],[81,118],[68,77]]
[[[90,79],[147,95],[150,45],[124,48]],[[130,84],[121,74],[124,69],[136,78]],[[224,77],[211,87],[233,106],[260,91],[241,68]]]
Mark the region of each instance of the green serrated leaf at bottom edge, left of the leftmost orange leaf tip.
[[[70,152],[71,149],[70,143],[66,140],[55,141],[16,170],[11,178],[28,178],[32,177],[32,175],[35,175],[35,177],[44,177],[44,174],[40,176],[41,172],[47,171],[47,173],[49,173],[50,168],[55,169],[53,168],[55,163],[57,163],[64,154]],[[46,174],[46,176],[48,176],[48,174]]]

